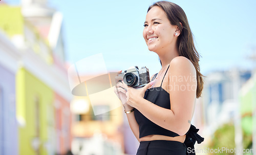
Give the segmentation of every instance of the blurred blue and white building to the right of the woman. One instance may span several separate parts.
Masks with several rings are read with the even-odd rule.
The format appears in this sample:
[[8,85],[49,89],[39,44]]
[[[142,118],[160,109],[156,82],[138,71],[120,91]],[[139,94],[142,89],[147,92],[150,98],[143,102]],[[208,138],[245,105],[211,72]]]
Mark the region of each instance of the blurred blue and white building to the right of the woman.
[[[224,124],[234,127],[236,148],[243,148],[243,128],[241,125],[239,92],[250,79],[251,71],[231,69],[211,72],[204,78],[202,97],[197,100],[192,123],[202,129],[199,133],[205,138],[203,147],[209,147],[215,132]],[[225,133],[223,133],[225,135]],[[197,146],[196,146],[197,147]],[[199,146],[202,148],[202,146]]]

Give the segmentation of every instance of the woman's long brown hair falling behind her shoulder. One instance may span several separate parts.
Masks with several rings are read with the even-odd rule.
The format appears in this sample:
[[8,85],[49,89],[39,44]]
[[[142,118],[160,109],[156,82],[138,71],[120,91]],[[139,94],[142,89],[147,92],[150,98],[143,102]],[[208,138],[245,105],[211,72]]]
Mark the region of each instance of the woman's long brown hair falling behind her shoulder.
[[196,68],[197,98],[199,98],[203,91],[204,81],[199,67],[200,55],[195,48],[193,34],[189,28],[187,16],[180,6],[167,1],[159,1],[154,3],[148,8],[147,12],[155,6],[160,7],[165,12],[170,24],[177,25],[180,29],[180,35],[177,39],[177,47],[179,49],[178,52],[180,56],[188,58]]

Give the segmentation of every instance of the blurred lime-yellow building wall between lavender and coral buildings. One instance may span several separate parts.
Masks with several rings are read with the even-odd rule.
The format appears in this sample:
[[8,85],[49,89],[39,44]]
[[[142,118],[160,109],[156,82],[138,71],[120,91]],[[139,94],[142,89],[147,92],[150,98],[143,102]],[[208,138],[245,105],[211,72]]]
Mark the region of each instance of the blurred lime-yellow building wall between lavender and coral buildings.
[[53,91],[24,68],[16,76],[19,154],[48,154],[48,128],[54,128]]

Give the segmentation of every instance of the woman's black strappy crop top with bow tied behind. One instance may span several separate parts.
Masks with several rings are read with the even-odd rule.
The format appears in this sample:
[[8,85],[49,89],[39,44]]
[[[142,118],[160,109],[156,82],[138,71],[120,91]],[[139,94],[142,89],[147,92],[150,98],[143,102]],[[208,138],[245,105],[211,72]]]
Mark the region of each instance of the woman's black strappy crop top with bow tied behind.
[[[163,76],[163,79],[169,69],[169,66]],[[156,77],[153,76],[153,79]],[[169,93],[166,92],[161,86],[159,87],[152,87],[146,90],[144,99],[160,106],[166,109],[170,109],[170,96]],[[144,115],[142,115],[139,110],[134,110],[134,116],[139,124],[139,138],[142,138],[144,136],[148,135],[163,135],[163,136],[169,136],[169,137],[176,137],[179,136],[173,131],[167,130],[155,123],[153,123],[151,120],[147,119]],[[200,144],[202,141],[204,141],[204,138],[199,136],[197,134],[199,129],[197,129],[194,125],[190,125],[189,130],[186,133],[186,139],[184,141],[184,144],[186,147],[194,148],[194,144],[197,141],[198,144]],[[194,153],[191,153],[194,154]]]

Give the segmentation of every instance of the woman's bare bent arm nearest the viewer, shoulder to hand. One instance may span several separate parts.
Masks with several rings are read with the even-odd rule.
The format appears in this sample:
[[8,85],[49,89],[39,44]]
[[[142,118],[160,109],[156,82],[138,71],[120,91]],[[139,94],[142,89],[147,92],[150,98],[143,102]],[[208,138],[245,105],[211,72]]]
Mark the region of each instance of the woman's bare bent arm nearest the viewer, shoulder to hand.
[[[190,127],[196,100],[196,70],[185,57],[176,57],[170,62],[166,74],[169,79],[171,109],[160,107],[145,100],[137,94],[137,90],[127,87],[127,104],[137,108],[146,118],[157,125],[185,135]],[[136,95],[137,94],[137,95]]]

